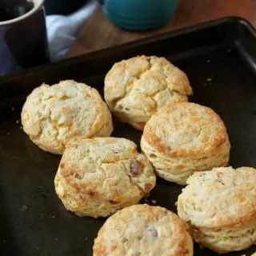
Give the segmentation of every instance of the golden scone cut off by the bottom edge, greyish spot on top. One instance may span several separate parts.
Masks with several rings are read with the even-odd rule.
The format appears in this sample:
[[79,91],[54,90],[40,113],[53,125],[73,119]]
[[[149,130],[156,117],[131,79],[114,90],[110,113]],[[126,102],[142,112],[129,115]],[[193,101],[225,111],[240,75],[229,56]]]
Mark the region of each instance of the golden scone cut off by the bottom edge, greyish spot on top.
[[191,256],[182,220],[159,206],[130,206],[108,218],[94,240],[94,256]]

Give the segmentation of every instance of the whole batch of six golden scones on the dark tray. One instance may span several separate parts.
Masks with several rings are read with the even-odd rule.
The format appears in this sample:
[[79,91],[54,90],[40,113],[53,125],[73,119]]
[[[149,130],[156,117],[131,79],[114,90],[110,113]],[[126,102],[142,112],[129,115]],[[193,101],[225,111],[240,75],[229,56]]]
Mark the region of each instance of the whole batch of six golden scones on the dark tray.
[[[73,80],[42,84],[26,98],[23,130],[42,150],[62,154],[54,185],[63,205],[81,217],[113,214],[98,231],[94,256],[190,256],[192,238],[219,254],[256,244],[256,170],[228,166],[222,118],[188,102],[192,94],[182,70],[142,55],[106,74],[106,103]],[[110,112],[142,130],[142,154],[134,142],[110,137]],[[185,186],[178,215],[139,204],[156,175]]]

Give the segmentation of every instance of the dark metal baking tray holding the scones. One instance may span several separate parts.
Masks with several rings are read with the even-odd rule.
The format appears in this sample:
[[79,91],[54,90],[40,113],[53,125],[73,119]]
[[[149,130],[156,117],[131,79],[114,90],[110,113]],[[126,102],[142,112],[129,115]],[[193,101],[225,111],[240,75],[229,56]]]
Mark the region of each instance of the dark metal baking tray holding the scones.
[[[0,78],[1,255],[92,255],[105,219],[79,218],[64,209],[53,182],[60,157],[30,142],[20,112],[26,95],[42,82],[72,78],[102,93],[114,62],[138,54],[165,56],[184,70],[194,88],[190,100],[212,107],[226,123],[230,164],[256,166],[256,32],[244,19],[222,18]],[[139,145],[140,132],[119,122],[114,128],[114,136]],[[153,198],[175,212],[181,189],[158,179],[148,202]],[[254,250],[230,255],[248,256]],[[195,245],[194,255],[215,254]]]

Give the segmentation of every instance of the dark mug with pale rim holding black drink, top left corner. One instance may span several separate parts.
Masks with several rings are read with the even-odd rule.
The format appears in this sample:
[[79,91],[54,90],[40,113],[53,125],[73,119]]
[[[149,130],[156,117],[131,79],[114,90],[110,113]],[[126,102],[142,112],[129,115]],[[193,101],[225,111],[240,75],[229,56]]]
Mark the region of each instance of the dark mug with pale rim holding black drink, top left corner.
[[[21,7],[16,6],[21,1],[2,0],[0,3],[0,75],[49,62],[44,0],[30,1],[31,8],[24,14],[21,14]],[[3,20],[5,15],[11,19]]]

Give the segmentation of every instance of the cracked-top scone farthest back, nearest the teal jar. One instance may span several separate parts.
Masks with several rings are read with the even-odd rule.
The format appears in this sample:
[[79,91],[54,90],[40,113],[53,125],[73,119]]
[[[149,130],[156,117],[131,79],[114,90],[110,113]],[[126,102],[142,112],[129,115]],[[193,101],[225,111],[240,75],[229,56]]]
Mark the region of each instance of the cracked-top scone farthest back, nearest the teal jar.
[[166,58],[138,56],[117,62],[106,74],[104,94],[111,112],[143,130],[152,114],[192,94],[186,74]]

